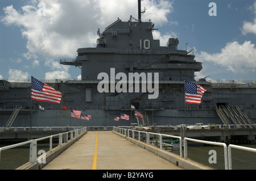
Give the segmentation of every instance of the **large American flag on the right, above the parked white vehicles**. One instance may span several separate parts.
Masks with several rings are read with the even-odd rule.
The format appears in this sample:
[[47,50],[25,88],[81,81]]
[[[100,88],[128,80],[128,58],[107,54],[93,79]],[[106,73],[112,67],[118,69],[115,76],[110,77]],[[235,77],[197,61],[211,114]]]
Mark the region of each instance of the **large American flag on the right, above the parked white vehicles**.
[[185,103],[201,104],[201,98],[205,91],[207,90],[199,84],[185,81]]

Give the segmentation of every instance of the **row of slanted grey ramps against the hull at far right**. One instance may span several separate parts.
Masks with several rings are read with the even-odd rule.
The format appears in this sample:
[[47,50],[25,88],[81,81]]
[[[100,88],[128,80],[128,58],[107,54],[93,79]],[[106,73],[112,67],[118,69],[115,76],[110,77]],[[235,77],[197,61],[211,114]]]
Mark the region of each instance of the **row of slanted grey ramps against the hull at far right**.
[[216,111],[225,125],[229,125],[233,121],[237,128],[256,128],[255,123],[238,106],[219,106],[216,107]]

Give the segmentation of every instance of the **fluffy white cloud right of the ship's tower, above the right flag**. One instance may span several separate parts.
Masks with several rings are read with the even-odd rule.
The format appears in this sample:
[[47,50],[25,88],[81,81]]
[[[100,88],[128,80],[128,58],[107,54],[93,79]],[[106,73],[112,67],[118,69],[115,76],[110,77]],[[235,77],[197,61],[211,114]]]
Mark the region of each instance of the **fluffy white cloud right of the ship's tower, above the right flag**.
[[245,41],[243,44],[237,41],[228,43],[220,53],[200,52],[196,54],[197,61],[213,62],[214,65],[221,66],[226,71],[232,71],[235,74],[255,73],[255,57],[256,48],[251,41]]

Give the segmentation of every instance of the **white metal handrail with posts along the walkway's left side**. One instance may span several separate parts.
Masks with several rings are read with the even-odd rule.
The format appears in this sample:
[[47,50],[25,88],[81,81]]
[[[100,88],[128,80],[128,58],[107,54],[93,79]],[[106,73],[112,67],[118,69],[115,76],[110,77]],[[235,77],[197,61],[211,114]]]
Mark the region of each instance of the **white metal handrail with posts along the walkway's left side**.
[[[30,141],[20,142],[18,144],[14,144],[14,145],[4,146],[4,147],[0,148],[0,160],[1,160],[1,151],[2,150],[7,150],[7,149],[15,148],[15,147],[18,147],[18,146],[30,144],[29,162],[31,162],[31,163],[38,162],[38,160],[36,159],[36,155],[37,155],[36,151],[37,151],[37,142],[38,141],[45,140],[45,139],[49,138],[50,139],[50,141],[49,141],[49,151],[52,152],[52,137],[59,136],[59,146],[63,146],[63,140],[64,140],[64,142],[68,142],[68,134],[69,133],[71,134],[70,140],[73,140],[73,137],[77,138],[79,136],[79,134],[84,133],[86,131],[87,131],[87,129],[86,129],[86,127],[84,127],[84,128],[76,129],[74,131],[54,134],[54,135],[47,136],[47,137],[37,138],[35,140],[30,140]],[[63,137],[63,135],[66,135],[66,137]]]

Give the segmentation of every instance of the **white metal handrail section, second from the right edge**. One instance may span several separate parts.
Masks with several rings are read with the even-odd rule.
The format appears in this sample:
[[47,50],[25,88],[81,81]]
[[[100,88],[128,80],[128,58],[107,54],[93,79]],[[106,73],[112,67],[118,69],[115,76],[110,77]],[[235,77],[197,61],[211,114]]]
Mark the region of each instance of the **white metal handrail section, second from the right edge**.
[[193,141],[193,142],[200,142],[202,144],[209,144],[209,145],[217,145],[217,146],[223,146],[224,147],[224,160],[225,160],[225,170],[228,170],[228,151],[227,151],[227,146],[226,144],[222,142],[213,142],[213,141],[204,141],[204,140],[196,140],[192,138],[184,138],[184,159],[188,158],[188,145],[187,145],[187,140],[188,141]]

